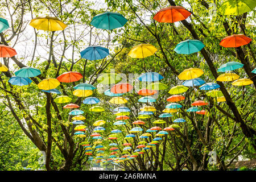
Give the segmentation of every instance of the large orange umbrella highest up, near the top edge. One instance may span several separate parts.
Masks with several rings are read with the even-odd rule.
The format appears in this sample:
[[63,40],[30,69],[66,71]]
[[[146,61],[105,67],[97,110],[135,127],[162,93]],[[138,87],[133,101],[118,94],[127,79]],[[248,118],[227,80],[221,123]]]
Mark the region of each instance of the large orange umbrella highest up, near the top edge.
[[155,14],[154,19],[162,23],[174,23],[180,20],[184,20],[190,16],[191,13],[181,6],[170,6],[160,9]]

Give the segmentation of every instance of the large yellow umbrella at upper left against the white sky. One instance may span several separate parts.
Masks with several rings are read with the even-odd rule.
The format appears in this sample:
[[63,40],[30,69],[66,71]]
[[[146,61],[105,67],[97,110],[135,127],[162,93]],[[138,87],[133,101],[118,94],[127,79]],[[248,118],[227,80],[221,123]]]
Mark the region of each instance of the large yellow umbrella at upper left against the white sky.
[[51,16],[38,16],[31,20],[30,26],[44,31],[64,30],[67,27],[59,19]]

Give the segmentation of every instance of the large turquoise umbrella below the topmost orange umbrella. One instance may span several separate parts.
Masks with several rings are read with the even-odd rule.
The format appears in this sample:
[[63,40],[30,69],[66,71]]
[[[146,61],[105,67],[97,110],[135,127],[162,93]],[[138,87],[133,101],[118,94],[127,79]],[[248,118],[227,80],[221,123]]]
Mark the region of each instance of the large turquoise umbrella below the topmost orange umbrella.
[[[174,51],[184,55],[199,52],[204,48],[204,44],[200,40],[184,40],[174,48]],[[192,78],[191,78],[192,79]]]

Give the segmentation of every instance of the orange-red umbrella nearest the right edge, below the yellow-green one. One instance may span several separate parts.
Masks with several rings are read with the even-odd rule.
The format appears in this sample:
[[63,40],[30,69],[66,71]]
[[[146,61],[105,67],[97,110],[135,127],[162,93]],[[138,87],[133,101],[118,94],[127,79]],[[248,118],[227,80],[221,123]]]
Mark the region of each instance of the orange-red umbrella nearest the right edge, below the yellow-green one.
[[220,45],[223,47],[240,47],[251,42],[251,38],[243,34],[234,34],[221,40]]

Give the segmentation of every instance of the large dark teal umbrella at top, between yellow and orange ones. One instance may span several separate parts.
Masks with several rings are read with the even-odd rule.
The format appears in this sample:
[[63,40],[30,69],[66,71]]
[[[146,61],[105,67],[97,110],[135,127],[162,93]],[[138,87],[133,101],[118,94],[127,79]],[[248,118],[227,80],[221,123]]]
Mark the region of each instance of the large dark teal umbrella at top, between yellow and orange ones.
[[125,19],[122,14],[107,11],[94,16],[90,24],[96,28],[113,30],[115,28],[124,26],[126,22],[127,19]]

